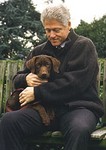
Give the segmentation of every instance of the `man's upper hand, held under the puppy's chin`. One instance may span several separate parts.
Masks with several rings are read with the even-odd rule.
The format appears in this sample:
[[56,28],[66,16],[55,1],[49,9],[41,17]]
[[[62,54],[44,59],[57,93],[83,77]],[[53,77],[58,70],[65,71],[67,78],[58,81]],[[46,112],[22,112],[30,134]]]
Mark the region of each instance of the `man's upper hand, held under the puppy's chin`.
[[26,76],[26,82],[28,86],[38,86],[44,82],[47,82],[47,80],[41,80],[36,74],[29,73]]

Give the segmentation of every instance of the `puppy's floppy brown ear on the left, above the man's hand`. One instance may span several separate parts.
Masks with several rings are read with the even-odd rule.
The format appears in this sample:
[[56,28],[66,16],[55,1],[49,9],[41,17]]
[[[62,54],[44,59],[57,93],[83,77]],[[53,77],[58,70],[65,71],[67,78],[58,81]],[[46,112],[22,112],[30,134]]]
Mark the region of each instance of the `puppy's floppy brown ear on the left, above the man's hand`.
[[36,61],[36,56],[34,56],[33,58],[31,58],[30,60],[28,60],[26,62],[26,67],[32,72],[35,73],[35,61]]

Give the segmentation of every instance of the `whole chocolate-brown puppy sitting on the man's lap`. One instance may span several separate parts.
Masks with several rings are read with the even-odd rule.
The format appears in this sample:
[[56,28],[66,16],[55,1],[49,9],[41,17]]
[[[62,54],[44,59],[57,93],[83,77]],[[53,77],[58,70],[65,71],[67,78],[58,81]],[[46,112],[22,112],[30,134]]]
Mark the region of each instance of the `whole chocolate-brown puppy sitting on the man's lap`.
[[[32,73],[37,74],[42,80],[49,80],[52,78],[54,73],[59,72],[60,62],[52,56],[38,55],[27,61],[26,66]],[[52,111],[52,108],[50,108],[50,106],[49,108],[46,106],[45,110],[45,108],[39,102],[32,102],[21,107],[19,103],[19,94],[23,90],[23,88],[20,88],[12,92],[6,102],[6,112],[32,107],[39,112],[42,122],[45,125],[49,125],[50,120],[54,119],[54,111]]]

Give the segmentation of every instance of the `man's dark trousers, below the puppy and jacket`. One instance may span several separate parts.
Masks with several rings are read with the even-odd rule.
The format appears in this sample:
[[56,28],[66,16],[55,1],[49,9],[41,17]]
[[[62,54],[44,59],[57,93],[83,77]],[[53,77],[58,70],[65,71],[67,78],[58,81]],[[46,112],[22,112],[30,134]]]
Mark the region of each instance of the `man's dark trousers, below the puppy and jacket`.
[[64,135],[64,150],[87,150],[90,134],[98,122],[95,114],[86,108],[55,110],[55,120],[49,126],[31,108],[5,113],[0,122],[0,150],[27,150],[25,138],[37,138],[45,131],[58,129]]

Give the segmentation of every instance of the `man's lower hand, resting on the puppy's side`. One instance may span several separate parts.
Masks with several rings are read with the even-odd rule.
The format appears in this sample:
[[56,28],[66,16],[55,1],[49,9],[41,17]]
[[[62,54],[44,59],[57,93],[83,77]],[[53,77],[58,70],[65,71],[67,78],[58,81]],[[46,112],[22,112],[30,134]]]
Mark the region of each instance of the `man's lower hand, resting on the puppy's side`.
[[32,102],[34,99],[35,99],[34,87],[27,87],[19,95],[19,102],[21,106],[24,106],[29,102]]

